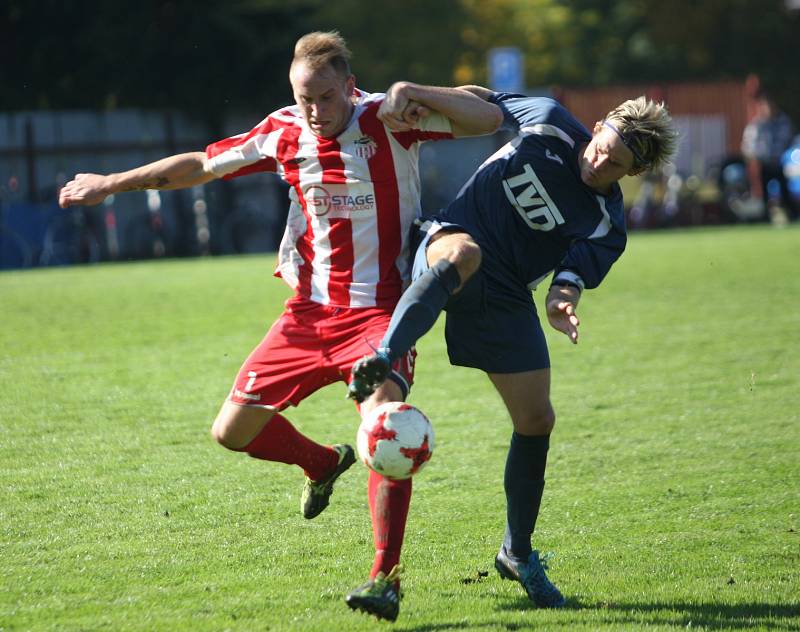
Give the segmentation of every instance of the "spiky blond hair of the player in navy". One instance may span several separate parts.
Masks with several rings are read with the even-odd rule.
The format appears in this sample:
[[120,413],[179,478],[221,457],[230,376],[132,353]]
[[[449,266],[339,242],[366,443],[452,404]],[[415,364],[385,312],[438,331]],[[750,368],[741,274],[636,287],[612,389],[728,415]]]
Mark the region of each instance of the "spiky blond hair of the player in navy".
[[612,124],[625,146],[633,152],[633,173],[642,173],[670,162],[678,149],[678,131],[663,103],[641,96],[629,99],[603,119]]

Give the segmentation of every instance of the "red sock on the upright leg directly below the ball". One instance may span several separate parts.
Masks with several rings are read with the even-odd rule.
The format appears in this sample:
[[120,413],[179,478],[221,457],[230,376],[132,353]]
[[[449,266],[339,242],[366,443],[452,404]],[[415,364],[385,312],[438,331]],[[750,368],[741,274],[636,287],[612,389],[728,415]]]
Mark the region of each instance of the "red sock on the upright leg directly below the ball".
[[388,574],[400,562],[400,549],[403,546],[410,504],[410,478],[395,481],[370,470],[369,509],[375,542],[375,561],[370,578],[374,578],[379,572]]

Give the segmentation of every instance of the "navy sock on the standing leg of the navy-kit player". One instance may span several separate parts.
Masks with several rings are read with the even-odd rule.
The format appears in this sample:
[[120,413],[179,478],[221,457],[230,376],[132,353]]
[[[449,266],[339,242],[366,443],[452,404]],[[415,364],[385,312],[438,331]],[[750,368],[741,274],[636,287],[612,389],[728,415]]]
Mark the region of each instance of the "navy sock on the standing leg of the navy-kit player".
[[511,435],[503,481],[506,490],[506,533],[503,545],[515,558],[527,560],[531,536],[544,491],[544,469],[550,435]]

